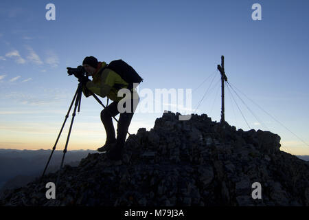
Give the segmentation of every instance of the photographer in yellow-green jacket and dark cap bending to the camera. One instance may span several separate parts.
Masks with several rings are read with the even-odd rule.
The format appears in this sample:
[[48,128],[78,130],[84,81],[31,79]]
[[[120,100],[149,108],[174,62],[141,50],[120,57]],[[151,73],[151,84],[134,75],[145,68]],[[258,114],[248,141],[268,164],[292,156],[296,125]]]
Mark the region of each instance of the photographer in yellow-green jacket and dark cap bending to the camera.
[[[93,92],[93,94],[98,94],[98,96],[102,98],[106,96],[113,100],[111,104],[101,111],[101,120],[106,131],[106,142],[104,146],[98,148],[98,151],[106,151],[108,159],[122,159],[122,149],[126,141],[126,133],[128,132],[128,127],[139,102],[139,96],[135,88],[130,89],[131,97],[129,101],[131,103],[131,109],[130,112],[120,113],[116,138],[112,116],[115,117],[115,115],[119,113],[117,108],[118,102],[122,100],[122,98],[126,98],[125,96],[118,97],[117,93],[119,89],[127,89],[129,84],[113,70],[104,68],[106,67],[106,63],[98,62],[97,58],[93,56],[84,58],[82,66],[86,70],[87,76],[92,76],[93,78],[92,81],[87,80],[87,82],[84,82],[85,87]],[[83,89],[86,97],[91,96],[87,89]],[[123,107],[126,107],[126,104],[124,104]]]

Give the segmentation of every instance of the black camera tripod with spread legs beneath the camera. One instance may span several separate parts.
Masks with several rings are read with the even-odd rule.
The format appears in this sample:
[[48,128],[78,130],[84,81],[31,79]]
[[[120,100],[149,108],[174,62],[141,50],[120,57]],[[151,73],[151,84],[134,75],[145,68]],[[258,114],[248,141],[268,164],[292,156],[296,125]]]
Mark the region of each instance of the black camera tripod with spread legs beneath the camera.
[[[42,175],[42,177],[41,177],[41,179],[42,179],[43,176],[45,175],[45,172],[46,172],[46,170],[47,170],[47,166],[48,166],[48,164],[49,164],[49,162],[50,162],[50,159],[52,158],[52,155],[53,155],[53,153],[54,153],[54,151],[55,151],[55,149],[56,149],[56,146],[57,146],[57,144],[58,144],[58,140],[59,140],[60,135],[61,135],[61,133],[62,133],[62,130],[63,130],[64,126],[65,126],[65,122],[67,122],[67,118],[69,118],[69,113],[70,113],[70,111],[71,111],[71,109],[72,109],[72,107],[73,107],[73,103],[75,102],[75,107],[74,107],[74,110],[73,110],[73,113],[72,113],[71,124],[70,124],[70,127],[69,127],[69,133],[68,133],[68,135],[67,135],[67,142],[65,143],[65,149],[63,150],[61,165],[60,165],[60,169],[59,169],[59,171],[58,171],[58,177],[57,177],[57,181],[56,181],[56,186],[57,186],[58,181],[59,181],[59,179],[60,179],[61,169],[62,169],[62,166],[63,166],[63,162],[64,162],[64,160],[65,160],[65,153],[67,153],[67,145],[69,144],[69,138],[70,138],[70,135],[71,135],[71,129],[72,129],[72,126],[73,126],[73,121],[74,121],[74,118],[75,118],[75,115],[76,115],[76,109],[78,109],[78,112],[80,112],[80,101],[82,100],[82,87],[83,87],[82,83],[79,83],[79,84],[78,84],[78,88],[76,89],[76,93],[75,93],[75,95],[74,95],[74,97],[73,97],[73,100],[72,100],[72,102],[71,102],[71,104],[70,104],[69,110],[67,111],[67,115],[65,115],[65,121],[63,122],[63,124],[62,124],[62,126],[61,126],[60,132],[59,132],[59,134],[58,134],[58,137],[57,137],[56,142],[55,142],[55,144],[54,144],[54,147],[53,147],[53,149],[52,149],[52,153],[51,153],[50,156],[49,156],[49,159],[48,159],[47,164],[46,164],[46,166],[45,166],[45,169],[44,169],[44,171],[43,171],[43,175]],[[90,92],[91,96],[93,96],[93,97],[95,98],[95,100],[97,100],[97,101],[99,102],[99,104],[101,104],[102,107],[104,107],[104,109],[105,109],[105,106],[104,106],[104,104],[101,102],[101,100],[100,100],[97,96],[95,96],[95,94],[91,93],[91,91],[89,91],[89,92]],[[114,116],[113,116],[113,118],[116,120],[116,122],[118,122],[118,120],[117,120]],[[127,133],[128,133],[128,131],[127,131]],[[130,133],[128,133],[128,135],[130,135]],[[133,138],[133,140],[134,140],[135,142],[137,142],[134,138]],[[137,144],[139,144],[139,143],[137,142]]]

